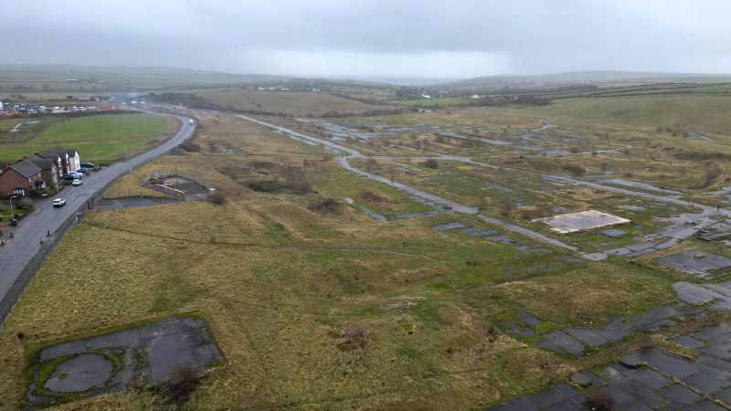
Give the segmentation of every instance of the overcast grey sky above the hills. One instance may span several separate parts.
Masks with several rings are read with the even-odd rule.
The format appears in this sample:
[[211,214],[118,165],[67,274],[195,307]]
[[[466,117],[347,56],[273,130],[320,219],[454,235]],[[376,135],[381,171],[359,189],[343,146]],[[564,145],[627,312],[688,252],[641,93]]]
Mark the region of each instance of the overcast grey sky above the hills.
[[4,0],[0,63],[458,79],[731,73],[731,0]]

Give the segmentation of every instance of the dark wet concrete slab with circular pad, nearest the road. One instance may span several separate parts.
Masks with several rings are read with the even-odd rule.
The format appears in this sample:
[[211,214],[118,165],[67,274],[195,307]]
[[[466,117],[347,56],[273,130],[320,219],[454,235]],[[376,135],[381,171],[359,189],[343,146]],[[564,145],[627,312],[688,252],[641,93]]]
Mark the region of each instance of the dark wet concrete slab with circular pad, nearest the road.
[[[35,384],[29,385],[26,399],[31,404],[55,403],[69,393],[119,393],[136,375],[147,376],[150,385],[168,380],[183,368],[200,377],[207,366],[222,359],[205,323],[187,317],[51,345],[39,358],[41,364],[48,364],[66,356],[72,358],[58,364],[44,382],[44,395],[37,395]],[[112,363],[121,364],[113,376]]]

